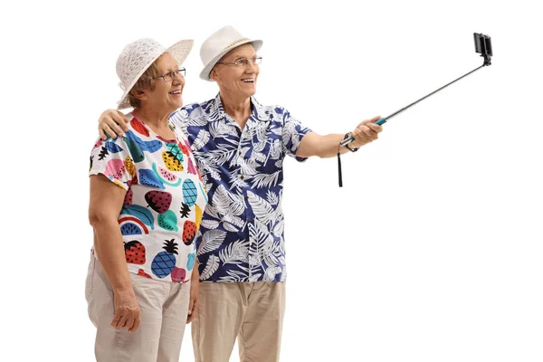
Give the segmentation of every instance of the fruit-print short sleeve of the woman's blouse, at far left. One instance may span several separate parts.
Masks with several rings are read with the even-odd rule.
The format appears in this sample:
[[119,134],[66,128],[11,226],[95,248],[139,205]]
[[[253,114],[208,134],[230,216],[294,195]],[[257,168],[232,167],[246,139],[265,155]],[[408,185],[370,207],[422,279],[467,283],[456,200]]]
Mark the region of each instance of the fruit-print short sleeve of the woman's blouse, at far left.
[[136,168],[129,154],[129,147],[124,138],[98,139],[94,148],[90,151],[90,175],[102,174],[110,179],[112,183],[129,190]]

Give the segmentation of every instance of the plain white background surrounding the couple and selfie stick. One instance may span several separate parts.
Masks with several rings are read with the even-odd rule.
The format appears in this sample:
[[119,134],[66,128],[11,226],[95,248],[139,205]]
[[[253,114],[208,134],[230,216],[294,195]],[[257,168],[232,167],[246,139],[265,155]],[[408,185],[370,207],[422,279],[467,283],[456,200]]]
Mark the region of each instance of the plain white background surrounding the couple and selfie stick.
[[226,24],[264,40],[257,98],[320,134],[475,69],[474,32],[495,53],[342,157],[343,188],[334,158],[286,162],[281,360],[543,360],[543,31],[536,2],[497,3],[4,2],[0,360],[93,360],[88,157],[117,56],[193,38],[184,98],[208,100],[199,46]]

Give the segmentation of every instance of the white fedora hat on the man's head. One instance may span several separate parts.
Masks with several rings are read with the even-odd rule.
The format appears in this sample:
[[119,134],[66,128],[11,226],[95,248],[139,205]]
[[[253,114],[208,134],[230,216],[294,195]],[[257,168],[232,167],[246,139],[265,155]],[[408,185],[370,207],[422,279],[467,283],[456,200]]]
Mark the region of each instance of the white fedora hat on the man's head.
[[262,40],[252,40],[245,38],[241,33],[235,30],[232,26],[227,25],[224,28],[212,33],[200,48],[200,58],[204,63],[204,70],[200,72],[200,78],[204,81],[213,81],[209,77],[209,73],[214,65],[233,48],[252,43],[254,51],[257,52],[262,47]]

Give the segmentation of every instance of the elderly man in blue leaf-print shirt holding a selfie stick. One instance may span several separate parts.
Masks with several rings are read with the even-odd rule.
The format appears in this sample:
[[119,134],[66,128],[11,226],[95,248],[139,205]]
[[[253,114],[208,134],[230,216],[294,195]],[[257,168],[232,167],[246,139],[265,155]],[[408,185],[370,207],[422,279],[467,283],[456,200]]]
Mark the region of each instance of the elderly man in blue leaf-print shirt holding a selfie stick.
[[[215,81],[219,93],[170,116],[186,131],[209,195],[197,235],[200,298],[191,317],[196,361],[228,361],[235,338],[242,361],[279,360],[286,281],[284,157],[335,157],[375,140],[382,130],[375,117],[347,135],[320,136],[288,110],[260,104],[253,96],[261,46],[231,26],[213,33],[200,50],[200,78]],[[102,137],[104,131],[120,134],[117,124],[126,127],[121,113],[104,112]],[[350,135],[355,140],[340,147]]]

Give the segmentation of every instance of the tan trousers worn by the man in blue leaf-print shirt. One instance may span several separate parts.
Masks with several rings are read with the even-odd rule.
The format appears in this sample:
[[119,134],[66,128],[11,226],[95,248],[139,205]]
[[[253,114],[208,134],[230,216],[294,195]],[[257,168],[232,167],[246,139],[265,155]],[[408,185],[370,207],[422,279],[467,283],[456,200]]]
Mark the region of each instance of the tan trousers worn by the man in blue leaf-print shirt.
[[284,282],[200,282],[195,361],[228,362],[235,338],[241,362],[279,361],[284,312]]

